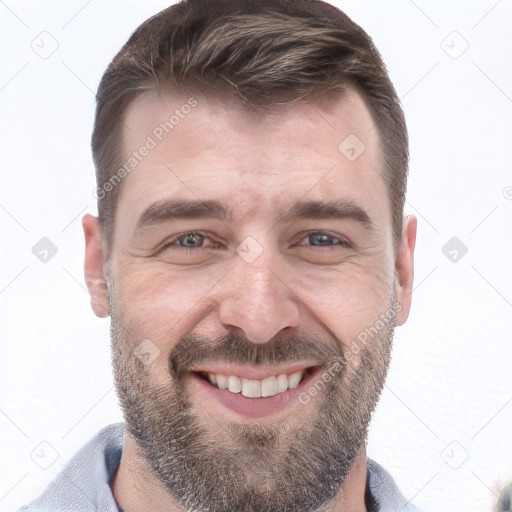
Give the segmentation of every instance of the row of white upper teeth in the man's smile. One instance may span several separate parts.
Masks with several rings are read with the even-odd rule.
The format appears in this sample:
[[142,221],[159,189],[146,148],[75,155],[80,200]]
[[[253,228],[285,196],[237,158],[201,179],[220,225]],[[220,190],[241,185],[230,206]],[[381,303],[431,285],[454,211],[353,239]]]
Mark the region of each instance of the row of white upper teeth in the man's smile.
[[296,388],[304,375],[304,371],[298,371],[290,375],[267,377],[266,379],[244,379],[236,375],[221,375],[208,373],[208,380],[219,389],[227,389],[231,393],[241,393],[248,398],[260,398],[274,396],[283,393],[287,389]]

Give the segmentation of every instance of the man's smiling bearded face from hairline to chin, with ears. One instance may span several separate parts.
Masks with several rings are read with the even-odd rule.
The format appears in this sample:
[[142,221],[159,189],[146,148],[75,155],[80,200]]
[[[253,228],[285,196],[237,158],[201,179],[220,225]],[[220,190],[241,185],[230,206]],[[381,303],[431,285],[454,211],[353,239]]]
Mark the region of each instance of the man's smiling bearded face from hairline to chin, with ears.
[[124,159],[144,156],[108,298],[88,284],[127,430],[185,508],[318,510],[364,446],[409,309],[414,229],[395,253],[371,115],[352,90],[266,113],[161,90],[125,123]]

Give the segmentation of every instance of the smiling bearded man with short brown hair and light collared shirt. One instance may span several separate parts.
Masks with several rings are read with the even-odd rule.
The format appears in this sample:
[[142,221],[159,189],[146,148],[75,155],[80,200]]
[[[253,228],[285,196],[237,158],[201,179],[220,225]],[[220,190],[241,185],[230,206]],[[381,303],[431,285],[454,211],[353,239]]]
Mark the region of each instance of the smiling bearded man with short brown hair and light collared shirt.
[[105,72],[92,149],[125,422],[23,510],[417,510],[365,451],[416,238],[366,33],[318,0],[174,5]]

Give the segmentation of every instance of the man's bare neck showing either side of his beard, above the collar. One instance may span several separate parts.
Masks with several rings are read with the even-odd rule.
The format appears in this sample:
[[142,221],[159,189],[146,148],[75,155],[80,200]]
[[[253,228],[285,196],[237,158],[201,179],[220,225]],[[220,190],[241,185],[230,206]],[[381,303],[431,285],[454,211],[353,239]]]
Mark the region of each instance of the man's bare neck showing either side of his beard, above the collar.
[[[316,512],[366,511],[366,448],[362,446],[336,498]],[[110,480],[116,503],[124,512],[187,512],[154,474],[135,440],[125,431],[121,462]]]

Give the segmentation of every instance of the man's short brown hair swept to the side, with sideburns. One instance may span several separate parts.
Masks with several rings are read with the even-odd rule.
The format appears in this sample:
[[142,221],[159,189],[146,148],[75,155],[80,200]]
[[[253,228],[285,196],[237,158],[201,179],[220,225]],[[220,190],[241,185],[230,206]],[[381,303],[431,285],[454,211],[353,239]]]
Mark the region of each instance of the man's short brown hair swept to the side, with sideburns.
[[260,106],[271,106],[283,94],[290,102],[306,101],[356,87],[381,135],[394,239],[401,240],[407,128],[386,67],[366,32],[320,0],[182,0],[137,28],[98,88],[92,153],[108,252],[120,186],[104,184],[122,165],[123,113],[142,91],[164,82],[204,94],[234,91],[242,101]]

